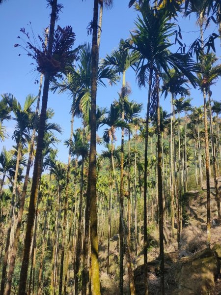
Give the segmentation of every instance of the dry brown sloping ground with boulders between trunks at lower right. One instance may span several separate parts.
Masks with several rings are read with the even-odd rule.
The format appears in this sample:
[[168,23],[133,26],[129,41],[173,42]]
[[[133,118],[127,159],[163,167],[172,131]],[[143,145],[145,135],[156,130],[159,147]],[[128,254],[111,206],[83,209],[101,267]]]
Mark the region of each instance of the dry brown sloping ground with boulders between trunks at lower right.
[[[185,223],[181,232],[181,249],[177,250],[176,236],[172,238],[169,222],[165,223],[165,287],[166,295],[221,295],[221,226],[218,224],[214,182],[211,181],[211,249],[206,249],[206,185],[202,190],[189,191],[183,196]],[[221,195],[221,177],[219,177]],[[158,229],[149,234],[148,286],[149,295],[159,295],[159,234]],[[142,237],[141,237],[142,241]],[[215,251],[215,245],[220,245]],[[217,246],[215,246],[217,247]],[[132,255],[136,294],[144,294],[144,267],[142,242],[138,257]],[[111,239],[110,274],[107,275],[107,240],[100,244],[101,285],[103,295],[118,295],[118,240]],[[218,254],[217,254],[218,253]],[[219,256],[219,257],[217,257]],[[128,275],[125,261],[125,295],[128,290]],[[198,288],[198,289],[197,289]]]

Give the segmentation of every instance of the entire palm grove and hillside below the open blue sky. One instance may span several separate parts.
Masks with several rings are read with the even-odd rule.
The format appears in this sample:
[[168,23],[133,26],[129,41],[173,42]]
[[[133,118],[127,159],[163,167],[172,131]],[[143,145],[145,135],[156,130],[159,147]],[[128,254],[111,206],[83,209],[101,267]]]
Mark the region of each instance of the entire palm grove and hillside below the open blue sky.
[[[39,92],[23,106],[12,93],[0,100],[0,295],[221,294],[220,0],[125,1],[136,29],[104,59],[112,0],[93,1],[92,41],[77,45],[72,27],[57,25],[63,5],[45,2],[41,47],[26,29],[25,45],[15,44],[38,71]],[[177,20],[190,16],[199,38],[187,46]],[[143,103],[130,98],[131,67]],[[99,107],[97,88],[113,84],[118,99]],[[72,97],[67,163],[57,159],[63,126],[49,91]]]

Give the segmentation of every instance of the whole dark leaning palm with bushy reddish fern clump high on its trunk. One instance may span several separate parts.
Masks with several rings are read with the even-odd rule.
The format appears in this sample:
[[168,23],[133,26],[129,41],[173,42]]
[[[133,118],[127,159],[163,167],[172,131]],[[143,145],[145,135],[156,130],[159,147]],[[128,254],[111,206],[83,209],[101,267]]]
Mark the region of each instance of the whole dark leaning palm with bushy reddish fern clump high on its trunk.
[[48,102],[48,92],[50,81],[59,72],[65,72],[66,66],[71,65],[74,59],[77,58],[78,50],[71,51],[71,48],[75,42],[75,33],[71,27],[64,29],[59,26],[55,30],[55,21],[58,16],[58,12],[61,10],[60,5],[57,4],[57,0],[49,0],[49,5],[52,8],[48,46],[43,46],[43,51],[34,47],[28,42],[29,55],[37,62],[37,70],[44,74],[44,87],[42,95],[42,107],[39,119],[38,127],[38,140],[36,147],[35,163],[33,169],[33,181],[30,193],[30,202],[28,208],[28,222],[25,237],[25,246],[23,252],[22,267],[20,271],[19,282],[19,295],[23,295],[26,292],[26,282],[28,275],[28,262],[29,252],[32,237],[32,230],[34,224],[34,213],[38,194],[38,184],[41,175],[41,162],[42,162],[42,149],[43,138],[45,133],[45,120]]

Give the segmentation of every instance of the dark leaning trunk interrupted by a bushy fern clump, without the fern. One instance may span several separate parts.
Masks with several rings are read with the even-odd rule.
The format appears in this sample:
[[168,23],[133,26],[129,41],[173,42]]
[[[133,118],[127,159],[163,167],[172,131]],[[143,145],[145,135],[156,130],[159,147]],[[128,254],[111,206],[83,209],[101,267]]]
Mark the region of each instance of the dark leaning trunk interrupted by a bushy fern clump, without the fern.
[[[49,41],[48,41],[49,57],[51,57],[52,55],[52,47],[53,47],[53,41],[54,41],[57,0],[53,0],[51,6],[52,6],[52,13],[51,13],[50,33],[49,33]],[[41,115],[39,120],[38,141],[37,141],[35,163],[34,163],[34,170],[33,170],[33,177],[32,177],[31,193],[30,193],[30,202],[29,202],[29,208],[28,208],[28,221],[27,221],[27,228],[26,228],[25,245],[24,245],[22,267],[21,267],[20,280],[19,280],[19,290],[18,290],[19,295],[25,295],[26,293],[30,243],[31,243],[31,236],[33,232],[35,206],[36,206],[36,200],[37,200],[37,194],[38,194],[38,185],[39,185],[40,175],[41,175],[40,169],[41,169],[41,161],[42,161],[42,150],[43,150],[43,140],[44,140],[44,133],[45,133],[45,120],[46,120],[46,112],[47,112],[50,79],[51,79],[51,72],[46,71],[44,88],[43,88],[43,96],[42,96]]]

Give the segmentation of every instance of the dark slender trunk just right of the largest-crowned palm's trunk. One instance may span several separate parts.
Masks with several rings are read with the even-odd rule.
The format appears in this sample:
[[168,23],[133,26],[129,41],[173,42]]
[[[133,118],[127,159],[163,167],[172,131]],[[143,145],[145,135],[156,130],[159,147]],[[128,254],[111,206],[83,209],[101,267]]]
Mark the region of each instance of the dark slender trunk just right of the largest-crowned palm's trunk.
[[162,145],[161,145],[161,129],[160,129],[160,98],[159,98],[159,92],[158,92],[158,97],[157,97],[157,135],[158,135],[157,136],[157,150],[158,150],[157,171],[158,171],[158,202],[159,202],[159,232],[160,232],[161,294],[165,295],[165,282],[164,282],[164,202],[163,202]]

